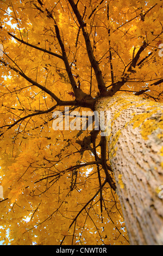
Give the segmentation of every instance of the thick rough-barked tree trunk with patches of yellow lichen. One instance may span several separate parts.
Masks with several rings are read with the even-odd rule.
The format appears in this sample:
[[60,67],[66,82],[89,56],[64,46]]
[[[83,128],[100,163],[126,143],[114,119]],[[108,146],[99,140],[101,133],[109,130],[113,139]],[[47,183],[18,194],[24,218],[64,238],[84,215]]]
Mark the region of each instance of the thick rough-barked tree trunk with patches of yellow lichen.
[[130,243],[163,245],[163,105],[121,94],[95,108],[111,111],[109,161]]

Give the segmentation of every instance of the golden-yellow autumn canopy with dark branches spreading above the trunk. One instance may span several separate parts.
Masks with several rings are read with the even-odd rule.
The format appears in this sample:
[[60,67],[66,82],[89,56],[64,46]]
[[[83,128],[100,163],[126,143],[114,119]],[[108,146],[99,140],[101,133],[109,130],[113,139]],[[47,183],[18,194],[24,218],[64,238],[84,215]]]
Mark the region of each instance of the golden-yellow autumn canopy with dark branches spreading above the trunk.
[[65,123],[66,106],[74,124],[73,115],[95,111],[99,96],[162,102],[162,7],[0,0],[4,244],[129,244],[101,131],[54,130],[53,112]]

